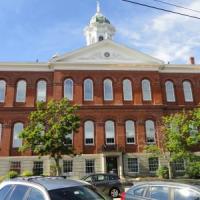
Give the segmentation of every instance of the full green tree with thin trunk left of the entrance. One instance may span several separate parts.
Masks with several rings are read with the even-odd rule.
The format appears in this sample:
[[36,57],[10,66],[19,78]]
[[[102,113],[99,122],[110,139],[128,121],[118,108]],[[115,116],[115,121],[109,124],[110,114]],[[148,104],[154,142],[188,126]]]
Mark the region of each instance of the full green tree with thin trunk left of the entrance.
[[57,175],[61,174],[59,161],[64,154],[73,154],[72,145],[67,136],[79,128],[78,107],[70,105],[67,99],[60,101],[38,102],[36,110],[29,115],[28,124],[20,133],[23,140],[20,151],[33,153],[54,159]]

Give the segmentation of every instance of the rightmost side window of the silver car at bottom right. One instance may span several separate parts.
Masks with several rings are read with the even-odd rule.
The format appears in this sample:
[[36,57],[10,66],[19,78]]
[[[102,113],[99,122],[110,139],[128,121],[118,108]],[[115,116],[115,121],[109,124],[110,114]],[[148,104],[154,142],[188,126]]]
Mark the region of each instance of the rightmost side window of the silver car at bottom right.
[[179,188],[174,191],[175,200],[200,200],[200,194],[187,188]]

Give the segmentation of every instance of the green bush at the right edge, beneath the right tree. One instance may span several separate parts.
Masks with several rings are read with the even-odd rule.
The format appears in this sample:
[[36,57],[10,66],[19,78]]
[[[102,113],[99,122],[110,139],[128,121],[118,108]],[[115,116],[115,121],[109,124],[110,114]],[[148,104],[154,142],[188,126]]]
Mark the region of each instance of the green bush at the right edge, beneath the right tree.
[[190,162],[186,167],[186,174],[190,178],[200,178],[200,162]]

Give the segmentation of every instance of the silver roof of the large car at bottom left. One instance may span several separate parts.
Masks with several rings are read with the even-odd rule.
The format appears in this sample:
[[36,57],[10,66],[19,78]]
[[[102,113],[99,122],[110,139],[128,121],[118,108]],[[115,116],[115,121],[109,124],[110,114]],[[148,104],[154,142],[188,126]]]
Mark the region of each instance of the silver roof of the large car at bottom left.
[[13,179],[4,181],[6,184],[23,184],[23,185],[39,185],[43,186],[46,190],[56,190],[60,188],[76,187],[83,185],[90,185],[89,183],[81,180],[61,179],[61,178],[27,178],[27,179]]

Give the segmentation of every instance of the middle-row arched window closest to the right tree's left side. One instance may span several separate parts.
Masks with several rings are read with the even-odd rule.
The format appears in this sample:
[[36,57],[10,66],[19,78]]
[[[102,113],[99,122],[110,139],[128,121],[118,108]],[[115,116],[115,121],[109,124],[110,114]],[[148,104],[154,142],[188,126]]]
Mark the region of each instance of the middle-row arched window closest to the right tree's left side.
[[155,143],[155,124],[152,120],[145,121],[146,142],[147,144]]

